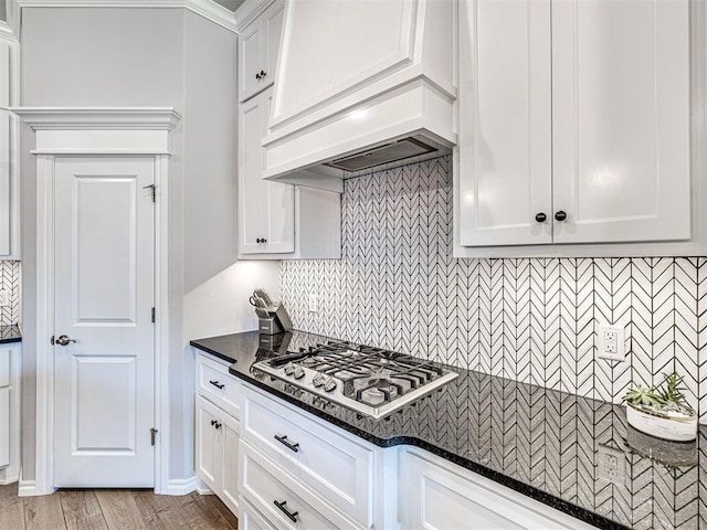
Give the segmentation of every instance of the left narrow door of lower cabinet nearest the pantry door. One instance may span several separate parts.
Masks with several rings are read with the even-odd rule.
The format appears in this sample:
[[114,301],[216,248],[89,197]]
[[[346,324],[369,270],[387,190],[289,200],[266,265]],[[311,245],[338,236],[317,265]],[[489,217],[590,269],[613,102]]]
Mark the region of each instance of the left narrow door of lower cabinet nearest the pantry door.
[[214,494],[220,489],[220,467],[223,464],[215,428],[219,415],[219,407],[197,396],[197,475]]

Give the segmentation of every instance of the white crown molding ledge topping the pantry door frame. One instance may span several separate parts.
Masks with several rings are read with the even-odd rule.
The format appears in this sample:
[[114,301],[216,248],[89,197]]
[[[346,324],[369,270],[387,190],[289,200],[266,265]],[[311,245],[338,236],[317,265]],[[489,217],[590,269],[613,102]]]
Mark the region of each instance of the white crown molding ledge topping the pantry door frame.
[[170,130],[181,119],[172,107],[11,107],[34,130]]

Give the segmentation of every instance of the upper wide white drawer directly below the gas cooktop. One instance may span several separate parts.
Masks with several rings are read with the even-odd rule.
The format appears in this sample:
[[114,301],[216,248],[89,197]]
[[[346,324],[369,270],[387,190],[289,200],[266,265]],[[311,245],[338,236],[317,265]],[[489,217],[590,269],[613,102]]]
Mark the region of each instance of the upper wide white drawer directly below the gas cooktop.
[[373,451],[244,388],[242,436],[356,521],[373,523]]

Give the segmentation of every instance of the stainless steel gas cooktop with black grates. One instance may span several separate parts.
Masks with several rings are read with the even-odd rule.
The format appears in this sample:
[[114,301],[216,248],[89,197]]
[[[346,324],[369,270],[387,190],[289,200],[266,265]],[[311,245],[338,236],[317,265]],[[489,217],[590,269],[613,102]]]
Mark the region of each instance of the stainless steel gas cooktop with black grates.
[[351,342],[317,344],[260,361],[253,368],[374,418],[458,375],[431,361]]

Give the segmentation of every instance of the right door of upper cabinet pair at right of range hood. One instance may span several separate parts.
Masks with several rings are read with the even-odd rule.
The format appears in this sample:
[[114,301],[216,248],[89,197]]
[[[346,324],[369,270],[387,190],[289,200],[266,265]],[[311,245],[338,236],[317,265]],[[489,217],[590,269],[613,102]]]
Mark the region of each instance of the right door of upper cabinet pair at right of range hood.
[[687,0],[552,2],[556,243],[686,240]]

